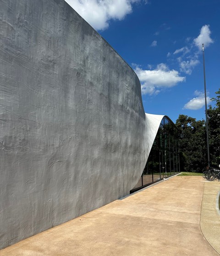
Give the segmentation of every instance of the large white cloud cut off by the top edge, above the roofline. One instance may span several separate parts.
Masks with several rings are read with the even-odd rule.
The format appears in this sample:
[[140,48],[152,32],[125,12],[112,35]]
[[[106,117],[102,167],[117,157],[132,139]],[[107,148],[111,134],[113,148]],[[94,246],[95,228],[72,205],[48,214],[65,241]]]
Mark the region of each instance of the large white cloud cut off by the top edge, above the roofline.
[[111,19],[122,20],[132,12],[132,4],[147,0],[66,0],[93,28],[104,30]]

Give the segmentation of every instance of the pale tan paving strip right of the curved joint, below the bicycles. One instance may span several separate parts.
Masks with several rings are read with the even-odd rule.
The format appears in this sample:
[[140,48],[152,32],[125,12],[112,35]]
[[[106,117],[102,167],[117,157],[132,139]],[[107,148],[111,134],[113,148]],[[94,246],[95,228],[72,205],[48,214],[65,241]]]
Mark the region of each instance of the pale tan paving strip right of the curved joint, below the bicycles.
[[[219,192],[219,181],[205,183],[200,226],[204,237],[220,254],[220,211],[216,204]],[[217,203],[219,204],[219,201]]]

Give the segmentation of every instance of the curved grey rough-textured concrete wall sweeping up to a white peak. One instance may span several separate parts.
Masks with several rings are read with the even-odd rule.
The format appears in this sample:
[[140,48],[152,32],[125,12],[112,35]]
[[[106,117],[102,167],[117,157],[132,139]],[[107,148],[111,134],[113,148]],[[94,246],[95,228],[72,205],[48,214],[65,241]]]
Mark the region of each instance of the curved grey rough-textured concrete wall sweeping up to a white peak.
[[0,248],[129,194],[163,116],[64,0],[0,0]]

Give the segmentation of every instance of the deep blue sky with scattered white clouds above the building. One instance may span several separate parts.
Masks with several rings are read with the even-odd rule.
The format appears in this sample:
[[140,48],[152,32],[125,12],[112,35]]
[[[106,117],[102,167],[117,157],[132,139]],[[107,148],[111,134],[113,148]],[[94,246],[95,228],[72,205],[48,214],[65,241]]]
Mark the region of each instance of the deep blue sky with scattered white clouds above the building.
[[[144,110],[205,118],[220,88],[220,0],[66,0],[134,69]],[[209,103],[210,104],[210,103]]]

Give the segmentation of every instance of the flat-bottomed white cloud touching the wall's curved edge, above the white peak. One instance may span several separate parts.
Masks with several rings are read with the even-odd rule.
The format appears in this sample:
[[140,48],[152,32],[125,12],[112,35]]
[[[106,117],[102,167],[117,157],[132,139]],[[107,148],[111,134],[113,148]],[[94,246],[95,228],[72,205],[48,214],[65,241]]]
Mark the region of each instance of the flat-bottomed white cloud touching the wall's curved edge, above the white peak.
[[158,94],[160,89],[173,87],[186,79],[178,71],[169,70],[164,63],[157,65],[154,70],[143,70],[137,65],[134,70],[141,82],[143,94]]

